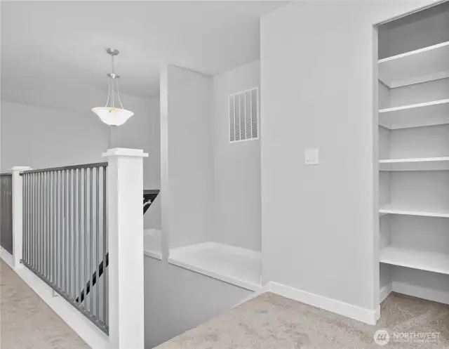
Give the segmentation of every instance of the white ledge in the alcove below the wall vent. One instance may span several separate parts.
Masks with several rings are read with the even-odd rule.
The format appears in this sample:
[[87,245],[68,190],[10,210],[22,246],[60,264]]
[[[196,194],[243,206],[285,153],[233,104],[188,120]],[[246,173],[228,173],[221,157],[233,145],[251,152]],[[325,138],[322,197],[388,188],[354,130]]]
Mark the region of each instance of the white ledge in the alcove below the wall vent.
[[243,289],[260,289],[262,253],[240,247],[204,242],[170,249],[168,263],[199,272]]

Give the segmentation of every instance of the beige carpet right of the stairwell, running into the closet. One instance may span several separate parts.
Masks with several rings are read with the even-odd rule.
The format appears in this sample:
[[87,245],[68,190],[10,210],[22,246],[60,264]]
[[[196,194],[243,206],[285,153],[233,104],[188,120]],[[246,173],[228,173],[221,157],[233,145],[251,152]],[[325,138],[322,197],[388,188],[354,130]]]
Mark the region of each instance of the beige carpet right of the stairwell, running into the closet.
[[[391,335],[387,345],[374,343],[377,329]],[[393,332],[432,332],[431,343],[393,343]],[[377,326],[314,308],[275,294],[258,296],[157,349],[449,349],[449,305],[391,294],[382,303]]]

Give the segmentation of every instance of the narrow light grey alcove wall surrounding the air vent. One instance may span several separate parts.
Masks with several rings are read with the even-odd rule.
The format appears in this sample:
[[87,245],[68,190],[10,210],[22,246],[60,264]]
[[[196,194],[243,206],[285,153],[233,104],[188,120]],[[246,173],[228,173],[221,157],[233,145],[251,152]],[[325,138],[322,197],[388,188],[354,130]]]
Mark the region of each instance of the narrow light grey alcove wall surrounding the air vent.
[[229,94],[260,86],[260,62],[213,78],[213,239],[261,249],[260,141],[229,143]]

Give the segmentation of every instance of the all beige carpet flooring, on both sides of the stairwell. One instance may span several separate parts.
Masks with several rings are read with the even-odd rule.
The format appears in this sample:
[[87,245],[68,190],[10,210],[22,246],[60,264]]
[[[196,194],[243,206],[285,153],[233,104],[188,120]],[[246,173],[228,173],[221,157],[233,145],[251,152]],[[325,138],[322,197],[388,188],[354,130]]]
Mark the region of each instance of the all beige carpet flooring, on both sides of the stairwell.
[[[370,326],[266,293],[157,349],[449,349],[449,305],[390,294],[381,314],[377,325]],[[383,346],[374,341],[379,329],[386,329],[390,336]],[[406,335],[410,333],[411,339]],[[0,348],[89,347],[0,261]]]

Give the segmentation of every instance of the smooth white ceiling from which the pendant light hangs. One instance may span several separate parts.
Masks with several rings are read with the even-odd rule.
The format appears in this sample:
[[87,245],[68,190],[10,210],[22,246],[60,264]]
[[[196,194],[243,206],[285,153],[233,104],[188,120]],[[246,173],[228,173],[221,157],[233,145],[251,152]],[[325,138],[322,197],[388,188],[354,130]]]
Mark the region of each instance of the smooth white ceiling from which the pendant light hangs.
[[[121,92],[159,94],[171,63],[215,75],[259,58],[259,18],[283,1],[13,1],[1,10],[1,92],[106,88],[110,58]],[[55,87],[57,86],[57,87]],[[29,98],[28,98],[28,97]],[[31,101],[34,103],[34,101]]]

